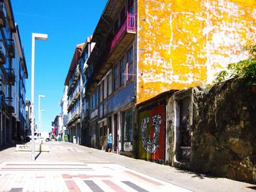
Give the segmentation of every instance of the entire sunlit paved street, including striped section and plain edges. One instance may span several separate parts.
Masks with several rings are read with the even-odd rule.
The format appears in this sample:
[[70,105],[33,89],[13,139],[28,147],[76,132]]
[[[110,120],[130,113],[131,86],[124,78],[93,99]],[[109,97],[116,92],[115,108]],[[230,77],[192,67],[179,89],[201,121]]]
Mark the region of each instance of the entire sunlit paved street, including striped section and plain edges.
[[0,151],[0,191],[255,191],[255,185],[206,177],[69,142],[49,152]]

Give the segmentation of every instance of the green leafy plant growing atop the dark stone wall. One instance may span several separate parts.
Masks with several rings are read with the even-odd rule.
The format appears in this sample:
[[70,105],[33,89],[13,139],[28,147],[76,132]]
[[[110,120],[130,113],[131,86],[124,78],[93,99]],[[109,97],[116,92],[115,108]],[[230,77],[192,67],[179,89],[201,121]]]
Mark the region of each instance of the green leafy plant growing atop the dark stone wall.
[[244,78],[249,87],[256,85],[256,45],[247,46],[244,50],[249,52],[249,58],[228,64],[227,71],[219,72],[214,83],[218,84],[230,78]]

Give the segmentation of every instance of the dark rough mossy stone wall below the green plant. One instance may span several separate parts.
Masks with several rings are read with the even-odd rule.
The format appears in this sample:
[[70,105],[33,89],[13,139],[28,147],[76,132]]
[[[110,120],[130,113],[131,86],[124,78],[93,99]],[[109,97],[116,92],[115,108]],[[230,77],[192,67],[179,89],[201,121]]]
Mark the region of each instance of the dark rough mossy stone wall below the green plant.
[[256,183],[256,93],[229,80],[193,91],[190,169]]

